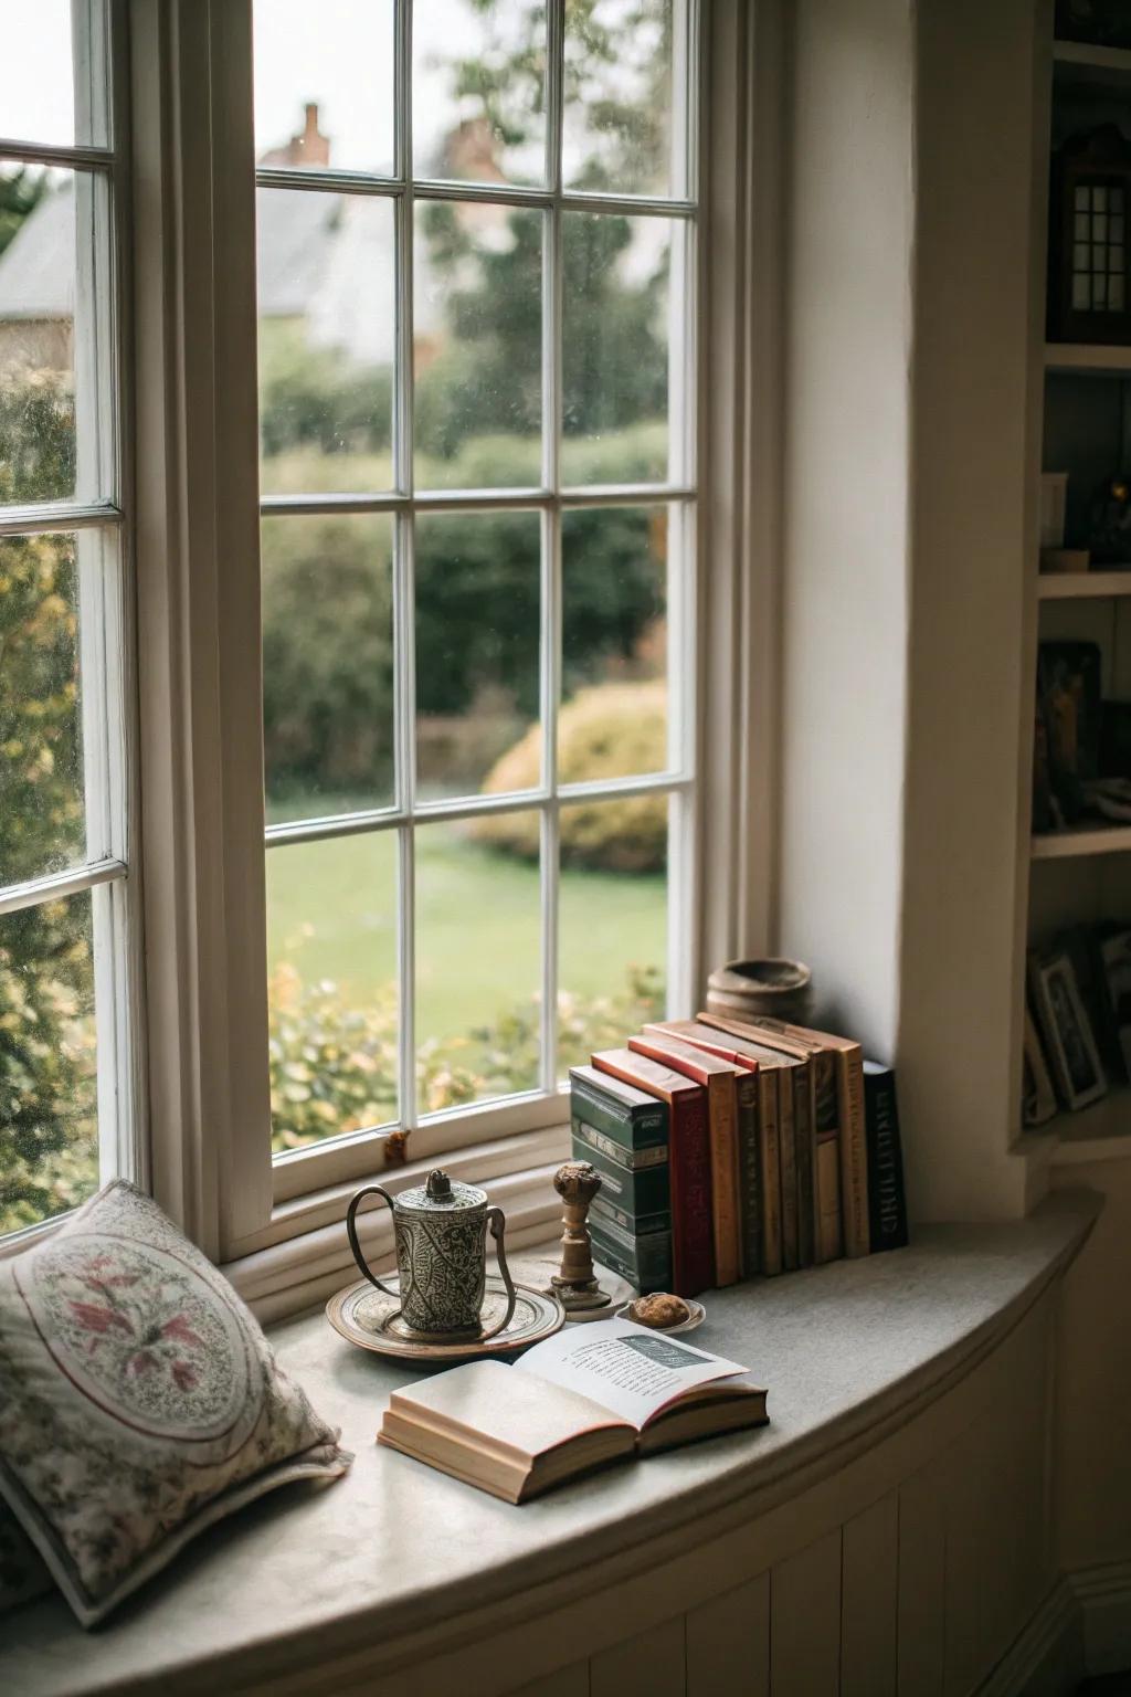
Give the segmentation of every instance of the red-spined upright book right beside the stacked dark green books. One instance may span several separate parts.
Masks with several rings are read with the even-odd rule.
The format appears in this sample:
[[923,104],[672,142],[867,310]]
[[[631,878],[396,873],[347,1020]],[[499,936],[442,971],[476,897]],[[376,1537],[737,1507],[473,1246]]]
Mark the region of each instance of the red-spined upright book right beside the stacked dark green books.
[[631,1084],[668,1110],[671,1288],[678,1297],[697,1297],[714,1285],[707,1089],[631,1049],[602,1049],[590,1059],[597,1073]]

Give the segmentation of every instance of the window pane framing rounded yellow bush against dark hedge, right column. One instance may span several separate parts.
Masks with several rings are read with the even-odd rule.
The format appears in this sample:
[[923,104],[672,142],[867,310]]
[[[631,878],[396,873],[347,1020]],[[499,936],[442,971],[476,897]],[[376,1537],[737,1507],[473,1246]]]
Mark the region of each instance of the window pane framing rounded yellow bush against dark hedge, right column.
[[597,507],[563,516],[563,784],[666,767],[666,507]]

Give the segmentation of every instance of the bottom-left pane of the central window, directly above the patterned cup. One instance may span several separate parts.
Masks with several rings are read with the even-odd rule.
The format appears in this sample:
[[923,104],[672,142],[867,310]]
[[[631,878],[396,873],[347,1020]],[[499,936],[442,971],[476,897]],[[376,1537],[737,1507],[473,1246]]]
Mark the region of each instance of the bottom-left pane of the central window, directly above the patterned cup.
[[397,1118],[397,833],[266,857],[271,1147]]

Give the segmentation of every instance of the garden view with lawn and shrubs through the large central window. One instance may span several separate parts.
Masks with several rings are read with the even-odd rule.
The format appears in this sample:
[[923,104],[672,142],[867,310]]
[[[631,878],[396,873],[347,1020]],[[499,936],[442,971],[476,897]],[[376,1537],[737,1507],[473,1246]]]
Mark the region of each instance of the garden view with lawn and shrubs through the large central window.
[[551,1095],[665,1006],[692,14],[254,0],[276,1152]]

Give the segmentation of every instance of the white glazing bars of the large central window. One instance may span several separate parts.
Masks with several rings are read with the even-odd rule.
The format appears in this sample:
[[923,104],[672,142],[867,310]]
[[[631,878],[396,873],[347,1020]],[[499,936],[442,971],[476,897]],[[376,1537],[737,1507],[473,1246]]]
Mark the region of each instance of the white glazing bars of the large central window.
[[[490,1135],[515,1123],[512,1106],[526,1103],[526,1118],[534,1105],[551,1103],[551,1113],[561,1115],[558,1079],[558,815],[563,804],[600,796],[621,799],[634,794],[660,792],[670,796],[670,845],[666,874],[666,935],[668,935],[668,1001],[685,1008],[690,1003],[690,938],[692,923],[685,901],[677,899],[678,886],[690,882],[695,848],[695,456],[697,456],[697,178],[699,148],[695,144],[690,112],[695,98],[677,100],[673,114],[673,149],[678,171],[673,180],[685,188],[683,195],[646,197],[627,193],[582,193],[565,190],[561,183],[561,71],[565,8],[549,7],[549,53],[546,85],[546,185],[514,187],[497,183],[466,183],[446,178],[415,176],[409,170],[412,158],[410,75],[412,75],[412,3],[400,0],[395,15],[397,71],[395,71],[395,163],[392,176],[319,168],[292,170],[259,166],[258,192],[302,190],[312,193],[348,192],[383,197],[397,210],[397,358],[395,358],[395,426],[393,426],[393,477],[395,490],[373,494],[315,494],[315,496],[263,496],[263,518],[280,521],[300,514],[392,512],[397,516],[395,543],[395,647],[397,664],[397,796],[392,806],[365,809],[344,816],[304,820],[273,825],[266,830],[268,852],[298,842],[320,842],[341,835],[395,832],[398,838],[398,1115],[387,1125],[359,1132],[339,1134],[312,1142],[285,1156],[273,1157],[273,1191],[276,1200],[293,1195],[295,1185],[305,1181],[317,1186],[326,1171],[341,1166],[343,1145],[356,1162],[371,1166],[382,1159],[382,1140],[393,1129],[412,1132],[410,1152],[421,1147],[419,1127],[431,1129],[431,1137],[443,1142],[444,1129],[458,1135],[461,1122],[471,1113],[478,1135]],[[699,90],[700,19],[695,3],[675,0],[673,5],[675,64],[673,81],[688,95]],[[692,81],[694,78],[694,81]],[[680,129],[685,139],[680,137]],[[548,214],[543,238],[543,487],[529,490],[417,490],[414,455],[414,205],[417,200],[461,200],[522,207]],[[663,482],[636,482],[609,489],[568,489],[561,484],[561,360],[563,360],[563,288],[561,288],[561,229],[570,212],[626,214],[631,217],[663,217],[671,227],[670,288],[668,288],[668,479]],[[643,777],[617,779],[592,784],[558,784],[558,706],[560,706],[560,624],[561,624],[561,514],[575,507],[660,506],[670,514],[668,545],[668,762],[666,770]],[[415,799],[415,687],[414,687],[414,621],[412,621],[412,519],[427,512],[487,512],[487,511],[538,511],[541,512],[541,703],[543,781],[531,791],[507,796],[468,796],[421,803]],[[482,813],[541,815],[541,1076],[532,1093],[509,1095],[476,1105],[473,1110],[444,1110],[441,1115],[422,1115],[417,1101],[417,1042],[415,1042],[415,877],[414,877],[414,825],[441,820],[465,820]],[[285,1164],[285,1171],[280,1171]],[[353,1162],[351,1162],[353,1164]]]

